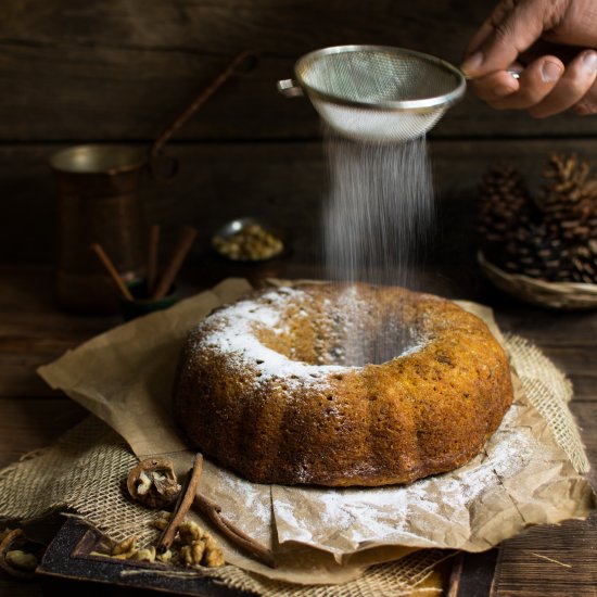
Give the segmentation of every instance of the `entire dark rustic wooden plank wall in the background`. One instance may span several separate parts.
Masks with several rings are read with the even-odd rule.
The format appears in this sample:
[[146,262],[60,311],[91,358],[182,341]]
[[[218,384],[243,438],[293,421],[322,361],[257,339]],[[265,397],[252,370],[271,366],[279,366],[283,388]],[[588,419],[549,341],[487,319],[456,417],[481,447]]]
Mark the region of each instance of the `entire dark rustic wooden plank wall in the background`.
[[[0,262],[51,263],[58,149],[123,142],[149,149],[239,51],[257,61],[230,79],[167,145],[181,173],[148,181],[148,220],[204,236],[255,214],[292,226],[309,259],[325,200],[318,117],[276,81],[297,58],[342,43],[382,43],[458,64],[493,1],[13,0],[0,4]],[[533,173],[549,151],[596,153],[597,119],[535,120],[496,112],[472,93],[429,135],[439,202],[466,195],[496,161]],[[167,246],[167,245],[166,245]]]

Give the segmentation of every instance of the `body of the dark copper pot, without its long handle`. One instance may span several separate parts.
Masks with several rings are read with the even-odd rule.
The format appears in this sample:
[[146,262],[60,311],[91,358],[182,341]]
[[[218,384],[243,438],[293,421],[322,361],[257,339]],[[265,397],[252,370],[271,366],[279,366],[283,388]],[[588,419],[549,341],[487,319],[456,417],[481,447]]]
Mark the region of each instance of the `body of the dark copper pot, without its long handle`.
[[100,243],[125,280],[143,275],[140,188],[145,156],[130,147],[78,145],[50,157],[59,194],[54,291],[71,312],[113,314],[118,293],[91,251]]

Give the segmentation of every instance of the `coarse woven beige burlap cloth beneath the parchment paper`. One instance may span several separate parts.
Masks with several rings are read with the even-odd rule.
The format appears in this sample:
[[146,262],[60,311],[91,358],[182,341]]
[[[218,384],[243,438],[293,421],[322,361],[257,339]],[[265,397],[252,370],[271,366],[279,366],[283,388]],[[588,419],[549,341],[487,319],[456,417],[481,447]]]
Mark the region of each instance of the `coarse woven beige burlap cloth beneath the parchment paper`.
[[[526,398],[545,418],[573,469],[584,475],[589,463],[568,407],[573,394],[570,381],[524,339],[509,335],[501,340]],[[149,524],[155,512],[136,506],[122,492],[122,481],[137,461],[118,433],[90,416],[53,445],[0,471],[0,519],[14,524],[62,512],[80,517],[113,539],[136,534],[150,543],[156,538],[156,531]],[[585,491],[576,498],[575,518],[584,518],[594,507],[594,496]],[[339,585],[304,587],[266,579],[237,566],[213,569],[209,574],[226,585],[264,596],[411,595],[454,551],[423,548],[405,554],[385,563],[365,566],[359,577]]]

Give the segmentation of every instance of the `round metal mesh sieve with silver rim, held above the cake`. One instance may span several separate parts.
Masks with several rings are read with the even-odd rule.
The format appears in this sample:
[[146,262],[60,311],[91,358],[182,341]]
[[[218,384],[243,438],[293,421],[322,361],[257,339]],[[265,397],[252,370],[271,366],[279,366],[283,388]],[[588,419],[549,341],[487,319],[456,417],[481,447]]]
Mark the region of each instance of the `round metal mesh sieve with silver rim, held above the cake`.
[[302,56],[294,75],[278,81],[281,93],[307,96],[332,129],[368,142],[422,136],[467,87],[452,64],[386,46],[323,48]]

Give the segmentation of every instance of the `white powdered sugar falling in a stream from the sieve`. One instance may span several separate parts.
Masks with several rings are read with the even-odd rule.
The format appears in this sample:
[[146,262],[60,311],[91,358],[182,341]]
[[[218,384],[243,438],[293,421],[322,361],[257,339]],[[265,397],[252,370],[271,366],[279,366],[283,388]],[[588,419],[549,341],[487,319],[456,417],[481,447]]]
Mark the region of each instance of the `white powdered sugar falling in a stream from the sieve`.
[[[425,138],[363,143],[326,130],[326,149],[330,168],[323,211],[327,277],[415,287],[415,264],[434,219]],[[350,295],[343,307],[351,321],[358,321],[359,305]],[[347,334],[347,351],[359,365],[385,363],[415,340],[411,330],[391,321],[365,353],[359,338],[357,329]]]

